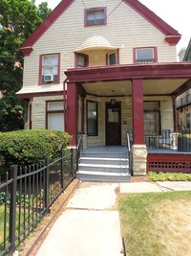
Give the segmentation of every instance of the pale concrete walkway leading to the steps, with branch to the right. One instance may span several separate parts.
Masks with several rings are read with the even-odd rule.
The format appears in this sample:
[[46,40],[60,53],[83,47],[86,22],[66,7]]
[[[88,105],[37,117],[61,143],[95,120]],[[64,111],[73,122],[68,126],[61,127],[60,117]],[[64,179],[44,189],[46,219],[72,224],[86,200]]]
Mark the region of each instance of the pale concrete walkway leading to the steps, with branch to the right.
[[191,190],[191,182],[81,183],[36,255],[121,256],[117,193],[168,190]]

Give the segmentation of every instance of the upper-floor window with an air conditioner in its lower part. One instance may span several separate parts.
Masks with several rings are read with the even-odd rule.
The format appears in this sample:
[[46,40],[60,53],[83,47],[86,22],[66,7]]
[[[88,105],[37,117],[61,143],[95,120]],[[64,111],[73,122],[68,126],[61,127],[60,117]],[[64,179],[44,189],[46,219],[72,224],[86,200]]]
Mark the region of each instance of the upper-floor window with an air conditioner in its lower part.
[[40,56],[39,83],[59,82],[59,62],[59,54]]

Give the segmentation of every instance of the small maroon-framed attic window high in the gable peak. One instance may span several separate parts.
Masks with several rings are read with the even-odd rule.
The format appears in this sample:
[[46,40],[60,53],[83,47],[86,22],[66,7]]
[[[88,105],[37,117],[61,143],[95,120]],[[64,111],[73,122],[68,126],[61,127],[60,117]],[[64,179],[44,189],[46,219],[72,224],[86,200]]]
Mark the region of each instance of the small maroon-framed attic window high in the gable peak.
[[85,10],[85,26],[106,25],[106,8]]

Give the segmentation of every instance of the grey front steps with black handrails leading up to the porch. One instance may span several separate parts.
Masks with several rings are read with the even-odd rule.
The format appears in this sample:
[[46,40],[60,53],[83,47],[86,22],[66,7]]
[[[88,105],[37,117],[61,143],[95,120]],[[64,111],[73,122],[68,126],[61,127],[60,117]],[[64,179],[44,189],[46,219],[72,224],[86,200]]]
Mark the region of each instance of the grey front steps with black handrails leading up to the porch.
[[83,181],[128,182],[130,176],[125,147],[85,149],[76,173],[76,177]]

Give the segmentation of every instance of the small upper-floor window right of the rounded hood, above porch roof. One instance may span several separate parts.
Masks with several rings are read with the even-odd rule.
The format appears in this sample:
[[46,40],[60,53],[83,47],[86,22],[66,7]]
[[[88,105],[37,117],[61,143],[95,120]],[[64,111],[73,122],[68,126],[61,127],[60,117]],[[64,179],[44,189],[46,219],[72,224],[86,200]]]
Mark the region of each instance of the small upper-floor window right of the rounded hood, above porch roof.
[[157,62],[157,48],[135,48],[134,49],[134,63],[151,63]]

